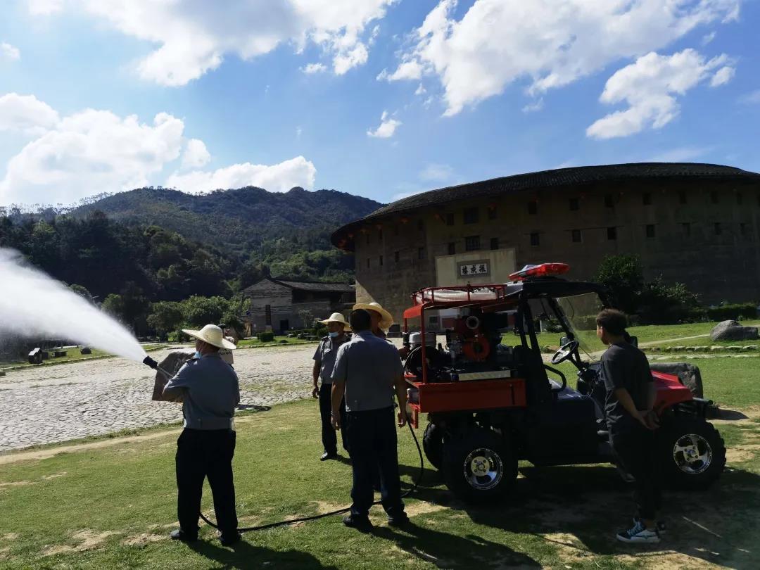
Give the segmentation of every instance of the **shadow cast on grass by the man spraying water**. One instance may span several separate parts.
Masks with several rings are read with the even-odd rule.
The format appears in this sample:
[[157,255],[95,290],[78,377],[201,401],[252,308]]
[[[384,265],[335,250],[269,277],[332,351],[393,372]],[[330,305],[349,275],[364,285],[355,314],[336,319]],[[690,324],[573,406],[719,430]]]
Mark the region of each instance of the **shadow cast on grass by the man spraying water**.
[[254,546],[240,540],[230,548],[223,548],[218,543],[198,540],[187,546],[201,556],[224,565],[224,568],[335,568],[325,566],[309,553],[300,550],[273,550]]

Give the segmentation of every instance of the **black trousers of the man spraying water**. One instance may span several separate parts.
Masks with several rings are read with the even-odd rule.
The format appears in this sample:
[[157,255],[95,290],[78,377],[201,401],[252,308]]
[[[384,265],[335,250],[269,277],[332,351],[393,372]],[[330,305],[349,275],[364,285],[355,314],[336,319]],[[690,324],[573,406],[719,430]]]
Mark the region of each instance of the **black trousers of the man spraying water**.
[[177,518],[191,537],[198,535],[203,480],[208,477],[214,496],[214,512],[222,534],[237,530],[233,455],[236,435],[232,429],[182,430],[177,440]]

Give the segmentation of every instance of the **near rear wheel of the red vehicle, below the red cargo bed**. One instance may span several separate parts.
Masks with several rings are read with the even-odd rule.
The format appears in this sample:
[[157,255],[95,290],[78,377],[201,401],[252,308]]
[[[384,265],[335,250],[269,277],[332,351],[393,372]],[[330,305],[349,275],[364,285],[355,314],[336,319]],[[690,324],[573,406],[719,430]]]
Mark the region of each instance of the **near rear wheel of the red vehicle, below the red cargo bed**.
[[471,429],[443,444],[442,472],[446,486],[459,498],[493,501],[515,484],[518,462],[500,435]]

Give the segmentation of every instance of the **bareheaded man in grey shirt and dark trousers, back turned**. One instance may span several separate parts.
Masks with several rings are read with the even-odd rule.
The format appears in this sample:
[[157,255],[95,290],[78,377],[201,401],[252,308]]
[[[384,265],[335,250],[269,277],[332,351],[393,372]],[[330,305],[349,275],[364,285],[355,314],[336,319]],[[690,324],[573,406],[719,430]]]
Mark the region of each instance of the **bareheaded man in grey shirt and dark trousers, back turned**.
[[332,374],[332,424],[340,429],[340,401],[346,402],[347,441],[353,487],[348,527],[368,530],[372,506],[372,477],[379,469],[380,496],[388,524],[409,522],[401,500],[398,476],[397,436],[394,426],[394,388],[398,399],[398,426],[407,423],[407,391],[404,366],[396,347],[370,330],[369,312],[351,312],[353,338],[338,349]]

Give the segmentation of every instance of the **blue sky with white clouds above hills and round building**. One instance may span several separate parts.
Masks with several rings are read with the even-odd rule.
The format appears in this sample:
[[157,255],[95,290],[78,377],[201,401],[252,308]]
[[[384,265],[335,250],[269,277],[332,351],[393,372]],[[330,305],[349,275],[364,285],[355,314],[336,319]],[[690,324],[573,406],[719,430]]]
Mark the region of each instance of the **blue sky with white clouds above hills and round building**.
[[582,164],[760,171],[752,0],[5,0],[0,205],[378,201]]

